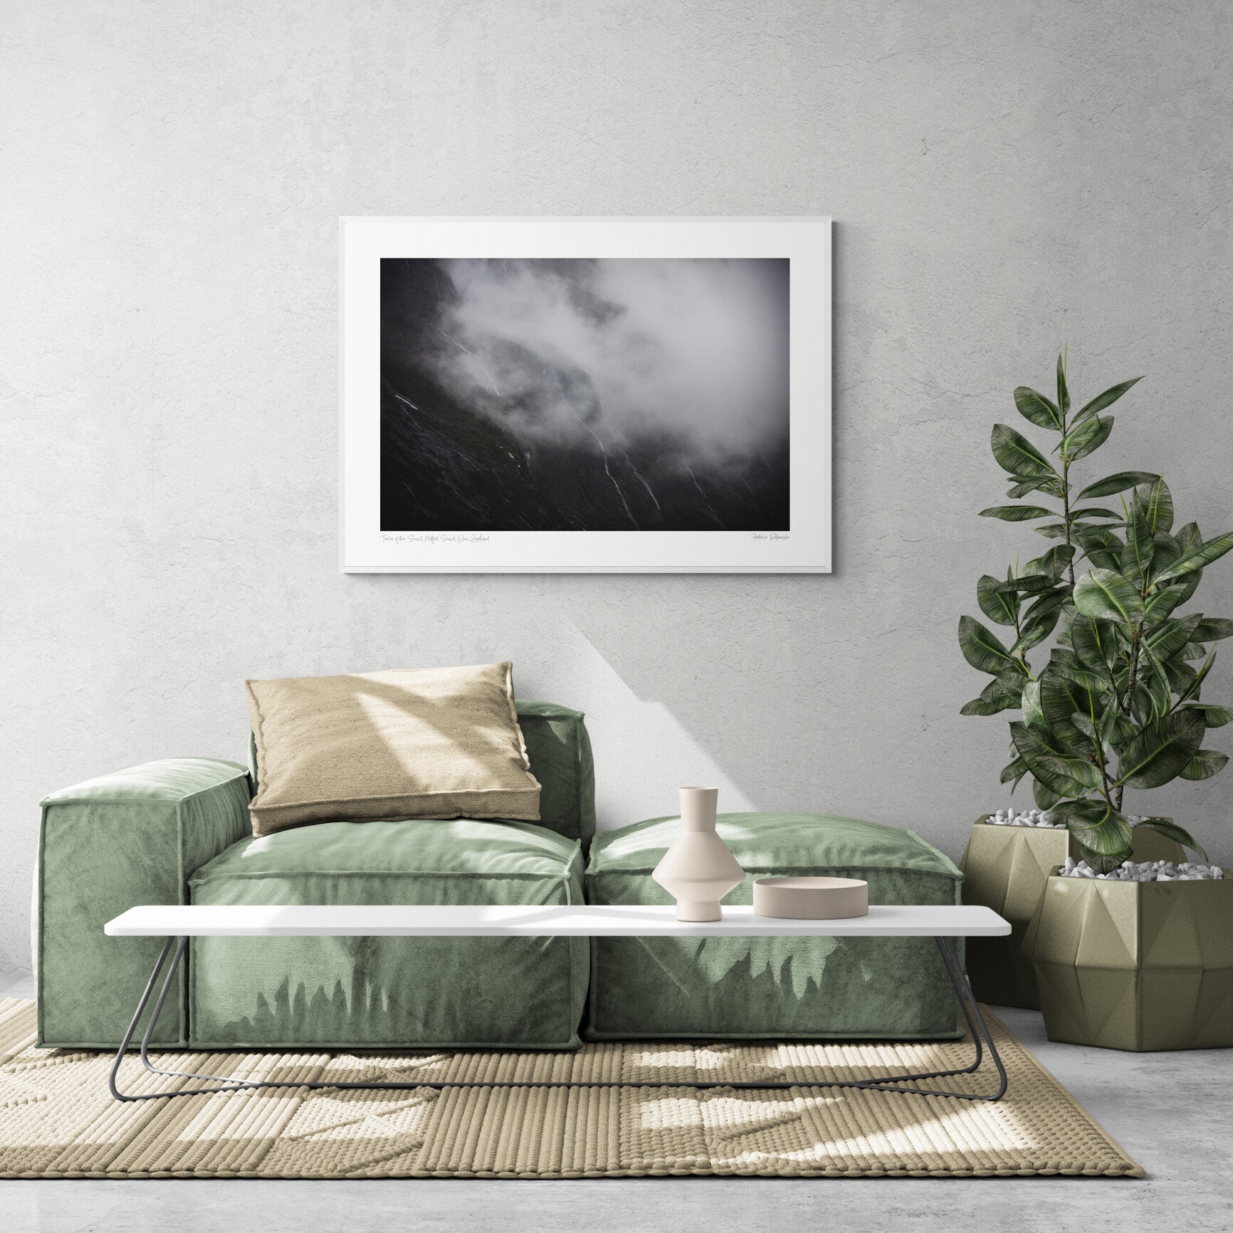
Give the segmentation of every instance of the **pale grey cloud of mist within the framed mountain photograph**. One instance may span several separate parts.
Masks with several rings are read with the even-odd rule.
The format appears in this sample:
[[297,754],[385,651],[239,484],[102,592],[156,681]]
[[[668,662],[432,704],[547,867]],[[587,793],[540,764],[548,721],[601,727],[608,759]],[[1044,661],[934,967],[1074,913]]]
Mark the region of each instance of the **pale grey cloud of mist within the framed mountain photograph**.
[[[741,466],[788,439],[785,260],[451,260],[422,342],[529,445]],[[451,293],[453,292],[453,293]]]

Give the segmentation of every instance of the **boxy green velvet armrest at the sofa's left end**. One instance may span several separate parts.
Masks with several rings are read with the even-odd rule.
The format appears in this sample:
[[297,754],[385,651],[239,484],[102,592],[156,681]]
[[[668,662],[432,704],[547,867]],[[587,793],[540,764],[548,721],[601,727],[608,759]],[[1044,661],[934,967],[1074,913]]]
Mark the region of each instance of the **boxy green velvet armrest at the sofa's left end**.
[[[158,958],[159,938],[102,926],[136,904],[185,904],[189,878],[252,832],[248,772],[219,758],[168,758],[89,779],[42,801],[35,883],[38,1044],[115,1047]],[[154,1041],[182,1044],[185,973]]]

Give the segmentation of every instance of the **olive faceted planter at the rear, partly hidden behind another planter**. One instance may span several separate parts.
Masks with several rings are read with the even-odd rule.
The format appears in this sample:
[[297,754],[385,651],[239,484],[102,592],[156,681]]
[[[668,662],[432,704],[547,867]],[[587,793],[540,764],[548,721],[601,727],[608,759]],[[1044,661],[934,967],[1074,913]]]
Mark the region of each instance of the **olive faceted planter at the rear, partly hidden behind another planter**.
[[[1036,975],[1022,953],[1023,937],[1036,914],[1049,874],[1079,859],[1069,831],[1043,826],[993,826],[978,819],[959,861],[964,873],[963,901],[983,904],[1010,921],[1009,937],[967,940],[968,979],[977,999],[994,1006],[1039,1010]],[[1182,848],[1147,827],[1134,830],[1136,861],[1185,861]],[[1088,879],[1081,879],[1088,882]],[[1101,883],[1104,885],[1104,883]]]

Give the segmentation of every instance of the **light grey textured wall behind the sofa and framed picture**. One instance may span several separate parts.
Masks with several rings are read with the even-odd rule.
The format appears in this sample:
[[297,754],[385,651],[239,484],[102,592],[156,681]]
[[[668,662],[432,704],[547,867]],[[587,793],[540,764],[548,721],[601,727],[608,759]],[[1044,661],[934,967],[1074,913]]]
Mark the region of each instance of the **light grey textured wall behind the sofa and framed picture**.
[[[958,715],[983,678],[956,620],[1044,546],[974,517],[1011,387],[1068,340],[1080,396],[1145,372],[1102,465],[1160,467],[1205,531],[1233,525],[1228,22],[1215,0],[5,5],[0,962],[27,962],[38,798],[242,752],[245,676],[510,656],[522,693],[589,713],[604,825],[703,777],[958,856],[1005,800],[1006,734]],[[337,218],[498,212],[835,215],[832,576],[337,572]],[[1233,565],[1203,607],[1233,613]],[[1231,785],[1152,806],[1233,859]]]

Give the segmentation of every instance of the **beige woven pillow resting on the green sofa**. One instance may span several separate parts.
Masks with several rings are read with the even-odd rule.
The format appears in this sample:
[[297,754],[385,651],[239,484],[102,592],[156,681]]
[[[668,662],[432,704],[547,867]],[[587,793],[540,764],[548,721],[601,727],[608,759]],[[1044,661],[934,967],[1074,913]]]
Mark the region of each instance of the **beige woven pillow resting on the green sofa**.
[[509,663],[244,683],[254,835],[381,817],[539,821]]

